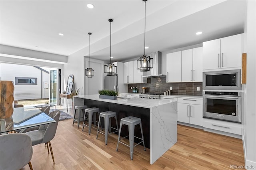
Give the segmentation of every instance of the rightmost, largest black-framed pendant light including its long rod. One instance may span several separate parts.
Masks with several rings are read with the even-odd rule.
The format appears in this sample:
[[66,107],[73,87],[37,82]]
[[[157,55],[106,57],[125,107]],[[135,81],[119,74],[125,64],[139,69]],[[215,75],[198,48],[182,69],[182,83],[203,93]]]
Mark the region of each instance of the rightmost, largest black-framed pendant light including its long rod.
[[153,58],[150,58],[149,55],[146,55],[146,1],[145,2],[145,19],[144,19],[144,55],[142,55],[137,60],[137,69],[140,71],[150,71],[153,68]]

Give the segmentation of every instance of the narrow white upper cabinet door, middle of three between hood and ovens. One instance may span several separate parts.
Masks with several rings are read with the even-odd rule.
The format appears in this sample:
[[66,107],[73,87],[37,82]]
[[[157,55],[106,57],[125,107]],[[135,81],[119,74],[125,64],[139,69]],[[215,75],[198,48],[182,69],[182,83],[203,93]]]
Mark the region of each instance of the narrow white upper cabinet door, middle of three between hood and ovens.
[[193,49],[181,51],[181,81],[193,81]]

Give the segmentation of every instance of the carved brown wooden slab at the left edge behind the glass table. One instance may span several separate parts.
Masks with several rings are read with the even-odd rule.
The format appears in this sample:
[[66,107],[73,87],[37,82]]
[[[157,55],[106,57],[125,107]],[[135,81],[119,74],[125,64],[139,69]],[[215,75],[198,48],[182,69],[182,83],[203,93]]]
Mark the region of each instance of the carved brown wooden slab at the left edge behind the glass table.
[[13,81],[0,81],[0,119],[12,117],[14,108]]

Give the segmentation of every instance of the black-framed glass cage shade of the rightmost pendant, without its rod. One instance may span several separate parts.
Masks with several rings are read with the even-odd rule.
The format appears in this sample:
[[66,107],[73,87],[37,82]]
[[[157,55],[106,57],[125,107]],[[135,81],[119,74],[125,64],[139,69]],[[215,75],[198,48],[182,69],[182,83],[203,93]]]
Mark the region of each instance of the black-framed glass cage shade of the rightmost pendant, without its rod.
[[150,71],[153,68],[153,58],[150,58],[149,55],[142,55],[137,60],[137,69],[140,71]]

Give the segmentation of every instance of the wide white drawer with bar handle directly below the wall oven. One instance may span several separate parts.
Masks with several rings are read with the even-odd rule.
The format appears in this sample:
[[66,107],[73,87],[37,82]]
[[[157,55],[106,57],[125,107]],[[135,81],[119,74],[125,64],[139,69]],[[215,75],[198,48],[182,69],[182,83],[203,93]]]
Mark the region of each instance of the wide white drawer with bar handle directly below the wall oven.
[[238,123],[217,120],[203,120],[203,127],[242,135],[242,125]]

